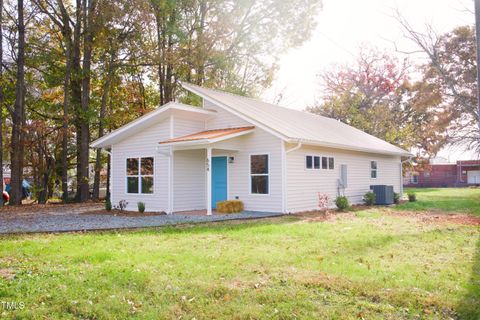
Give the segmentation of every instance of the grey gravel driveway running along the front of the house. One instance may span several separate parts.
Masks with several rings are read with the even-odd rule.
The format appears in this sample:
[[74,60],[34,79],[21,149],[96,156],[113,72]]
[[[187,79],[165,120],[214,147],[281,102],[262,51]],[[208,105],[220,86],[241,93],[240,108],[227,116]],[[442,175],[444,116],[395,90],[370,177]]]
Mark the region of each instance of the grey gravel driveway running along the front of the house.
[[212,216],[173,214],[126,217],[84,214],[86,211],[98,209],[95,206],[88,206],[84,209],[66,206],[64,210],[56,209],[54,211],[35,210],[35,212],[27,213],[0,211],[0,234],[159,227],[183,223],[258,219],[281,215],[280,213],[245,211],[239,214],[216,214]]

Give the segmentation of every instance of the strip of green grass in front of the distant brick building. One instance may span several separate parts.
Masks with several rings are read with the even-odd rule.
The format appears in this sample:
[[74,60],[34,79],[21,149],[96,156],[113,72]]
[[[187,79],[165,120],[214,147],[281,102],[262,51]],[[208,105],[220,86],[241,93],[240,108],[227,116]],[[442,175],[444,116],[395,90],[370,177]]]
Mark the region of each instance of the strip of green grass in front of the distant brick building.
[[445,212],[461,212],[480,216],[480,189],[478,188],[417,188],[405,189],[405,194],[417,194],[416,202],[398,206],[405,210],[437,209]]

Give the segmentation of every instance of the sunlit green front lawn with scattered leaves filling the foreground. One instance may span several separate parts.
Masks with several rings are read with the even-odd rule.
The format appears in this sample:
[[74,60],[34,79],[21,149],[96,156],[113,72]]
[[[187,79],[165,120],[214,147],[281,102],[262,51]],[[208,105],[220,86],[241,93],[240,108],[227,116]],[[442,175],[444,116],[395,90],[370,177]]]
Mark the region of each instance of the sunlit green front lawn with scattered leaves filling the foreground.
[[479,319],[480,229],[394,212],[6,236],[0,318]]

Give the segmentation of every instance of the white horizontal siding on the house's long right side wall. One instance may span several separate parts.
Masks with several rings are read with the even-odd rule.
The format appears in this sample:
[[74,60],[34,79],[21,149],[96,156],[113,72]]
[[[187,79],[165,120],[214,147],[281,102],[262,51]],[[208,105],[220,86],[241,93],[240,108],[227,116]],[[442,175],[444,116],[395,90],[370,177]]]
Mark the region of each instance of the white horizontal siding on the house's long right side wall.
[[[295,145],[288,145],[289,148]],[[325,155],[335,160],[334,169],[306,169],[306,155]],[[377,161],[377,179],[370,178],[370,161]],[[393,185],[400,192],[400,157],[332,148],[302,147],[287,154],[287,210],[298,212],[318,209],[318,194],[328,194],[330,205],[338,195],[341,165],[347,165],[345,195],[351,203],[361,203],[372,184]]]

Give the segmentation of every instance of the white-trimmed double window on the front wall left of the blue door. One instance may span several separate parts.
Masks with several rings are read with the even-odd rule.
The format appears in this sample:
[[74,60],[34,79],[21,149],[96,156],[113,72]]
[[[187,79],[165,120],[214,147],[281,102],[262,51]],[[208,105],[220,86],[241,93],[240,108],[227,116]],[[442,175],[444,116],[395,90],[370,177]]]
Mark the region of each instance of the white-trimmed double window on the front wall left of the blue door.
[[153,157],[127,158],[127,193],[153,193]]

